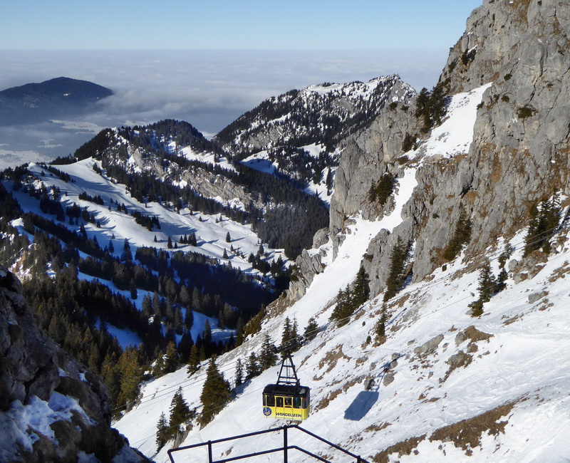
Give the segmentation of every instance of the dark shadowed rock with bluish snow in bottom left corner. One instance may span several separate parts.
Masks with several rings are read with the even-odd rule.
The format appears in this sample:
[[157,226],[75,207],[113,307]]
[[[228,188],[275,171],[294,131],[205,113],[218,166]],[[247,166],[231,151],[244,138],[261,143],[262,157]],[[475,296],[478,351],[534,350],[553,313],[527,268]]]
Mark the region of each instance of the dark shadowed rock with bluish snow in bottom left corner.
[[147,461],[110,428],[105,385],[33,321],[14,274],[0,269],[0,460]]

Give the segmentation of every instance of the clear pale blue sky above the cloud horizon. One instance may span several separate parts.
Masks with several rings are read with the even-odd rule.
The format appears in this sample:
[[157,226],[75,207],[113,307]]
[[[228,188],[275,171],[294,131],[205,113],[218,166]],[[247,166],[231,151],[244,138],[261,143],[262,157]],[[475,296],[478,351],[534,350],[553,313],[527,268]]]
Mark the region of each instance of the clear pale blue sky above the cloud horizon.
[[482,0],[21,0],[2,2],[0,48],[449,48]]

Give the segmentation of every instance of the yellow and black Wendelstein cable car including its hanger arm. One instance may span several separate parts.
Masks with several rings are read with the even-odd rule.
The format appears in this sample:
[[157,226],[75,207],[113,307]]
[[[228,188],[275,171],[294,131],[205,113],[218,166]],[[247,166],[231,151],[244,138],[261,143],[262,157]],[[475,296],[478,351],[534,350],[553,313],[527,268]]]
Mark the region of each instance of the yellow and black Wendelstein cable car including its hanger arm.
[[306,420],[311,410],[311,388],[302,386],[289,353],[281,362],[277,383],[263,390],[263,414],[269,418]]

